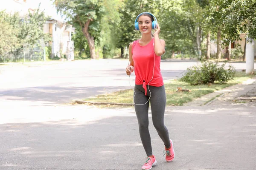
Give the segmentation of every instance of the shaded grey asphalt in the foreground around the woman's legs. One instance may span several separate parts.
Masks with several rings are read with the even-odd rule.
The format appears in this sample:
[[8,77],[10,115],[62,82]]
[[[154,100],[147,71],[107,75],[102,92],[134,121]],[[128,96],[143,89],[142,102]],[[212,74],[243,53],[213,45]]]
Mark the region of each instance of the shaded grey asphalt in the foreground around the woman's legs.
[[[255,167],[253,148],[256,145],[253,139],[256,137],[256,124],[253,121],[256,115],[244,111],[244,108],[233,110],[238,112],[234,113],[231,108],[177,107],[168,111],[165,122],[176,153],[171,164],[164,159],[164,145],[150,117],[152,148],[158,162],[154,170],[168,170],[170,167],[239,169],[244,161],[247,162],[246,167]],[[135,114],[106,115],[93,122],[73,119],[7,123],[0,125],[0,137],[0,146],[3,146],[0,169],[134,170],[145,161]],[[247,159],[248,155],[253,157]]]

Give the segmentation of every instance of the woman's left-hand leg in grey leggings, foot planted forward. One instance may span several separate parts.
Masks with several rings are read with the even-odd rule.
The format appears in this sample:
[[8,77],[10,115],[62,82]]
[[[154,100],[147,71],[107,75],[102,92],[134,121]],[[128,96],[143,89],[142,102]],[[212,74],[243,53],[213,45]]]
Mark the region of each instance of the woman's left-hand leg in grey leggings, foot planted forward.
[[[148,96],[145,96],[145,90],[142,85],[135,85],[134,103],[144,104],[148,101]],[[147,156],[152,155],[151,138],[148,130],[148,107],[149,101],[145,105],[134,105],[138,119],[140,139],[145,149]]]

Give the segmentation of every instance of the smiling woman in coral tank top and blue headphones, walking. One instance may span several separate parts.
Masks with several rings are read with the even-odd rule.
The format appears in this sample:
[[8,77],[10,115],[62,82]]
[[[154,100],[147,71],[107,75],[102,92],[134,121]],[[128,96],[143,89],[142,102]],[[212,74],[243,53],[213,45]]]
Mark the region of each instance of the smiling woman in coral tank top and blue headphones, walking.
[[[151,30],[156,28],[154,34]],[[151,104],[153,125],[162,139],[166,153],[166,161],[174,159],[172,140],[164,125],[166,93],[163,77],[160,72],[161,55],[165,53],[165,41],[159,39],[160,26],[153,14],[143,12],[135,20],[135,29],[140,30],[141,38],[129,45],[129,63],[126,74],[135,71],[134,107],[138,119],[140,139],[147,158],[143,170],[150,170],[157,163],[152,153],[151,139],[148,130],[148,108]]]

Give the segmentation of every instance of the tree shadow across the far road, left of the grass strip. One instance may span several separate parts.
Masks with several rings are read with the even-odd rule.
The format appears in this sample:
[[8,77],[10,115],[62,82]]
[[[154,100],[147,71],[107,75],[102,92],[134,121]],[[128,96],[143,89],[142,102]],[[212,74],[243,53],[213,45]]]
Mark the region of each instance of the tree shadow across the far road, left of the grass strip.
[[32,87],[11,89],[0,92],[0,97],[5,100],[20,100],[31,102],[43,102],[42,104],[60,104],[66,102],[72,102],[75,99],[85,99],[96,94],[103,94],[107,92],[118,91],[120,88],[127,89],[127,87]]

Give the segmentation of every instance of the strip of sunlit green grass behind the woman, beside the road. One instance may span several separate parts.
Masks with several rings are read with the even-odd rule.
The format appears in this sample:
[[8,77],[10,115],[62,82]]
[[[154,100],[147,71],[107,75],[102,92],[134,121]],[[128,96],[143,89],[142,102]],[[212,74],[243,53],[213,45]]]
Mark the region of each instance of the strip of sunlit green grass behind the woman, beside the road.
[[[166,89],[166,104],[174,106],[182,106],[184,103],[190,102],[195,98],[204,96],[223,88],[239,84],[255,75],[246,75],[244,72],[236,72],[233,80],[227,84],[211,84],[211,85],[189,85],[186,82],[177,80],[169,80],[164,83]],[[190,92],[176,92],[177,87],[188,89]],[[133,89],[125,91],[116,91],[110,94],[102,94],[93,98],[83,99],[92,102],[111,102],[111,103],[133,103]]]

